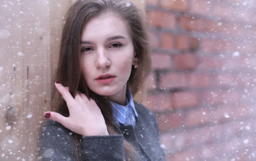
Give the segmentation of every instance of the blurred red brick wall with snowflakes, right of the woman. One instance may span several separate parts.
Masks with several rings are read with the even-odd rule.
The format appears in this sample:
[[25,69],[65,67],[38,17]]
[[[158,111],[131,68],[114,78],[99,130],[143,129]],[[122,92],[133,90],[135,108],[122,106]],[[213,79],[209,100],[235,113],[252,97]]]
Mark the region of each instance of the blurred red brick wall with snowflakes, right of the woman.
[[168,161],[255,161],[256,0],[147,0]]

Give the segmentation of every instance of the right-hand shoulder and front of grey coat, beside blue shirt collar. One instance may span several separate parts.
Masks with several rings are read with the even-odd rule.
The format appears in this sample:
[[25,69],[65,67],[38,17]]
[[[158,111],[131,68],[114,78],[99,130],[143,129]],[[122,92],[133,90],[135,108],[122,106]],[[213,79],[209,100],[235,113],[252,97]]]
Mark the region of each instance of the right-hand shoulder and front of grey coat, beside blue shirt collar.
[[139,148],[141,152],[147,157],[148,161],[160,161],[163,155],[160,148],[159,133],[154,122],[154,113],[149,111],[145,106],[134,102],[135,109],[138,113],[136,126],[133,129],[131,125],[119,126],[117,129],[119,134],[123,134],[125,129],[131,132],[129,138],[125,138],[131,142],[135,147]]

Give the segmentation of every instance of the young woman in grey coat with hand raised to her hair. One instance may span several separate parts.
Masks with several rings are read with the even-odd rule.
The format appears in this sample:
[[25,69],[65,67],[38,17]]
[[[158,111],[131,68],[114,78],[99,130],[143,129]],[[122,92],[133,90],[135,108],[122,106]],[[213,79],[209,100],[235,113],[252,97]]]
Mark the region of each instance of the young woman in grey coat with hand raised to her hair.
[[56,112],[44,113],[42,160],[165,161],[156,116],[132,98],[150,64],[145,18],[134,4],[74,3],[56,70],[62,97]]

